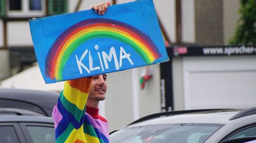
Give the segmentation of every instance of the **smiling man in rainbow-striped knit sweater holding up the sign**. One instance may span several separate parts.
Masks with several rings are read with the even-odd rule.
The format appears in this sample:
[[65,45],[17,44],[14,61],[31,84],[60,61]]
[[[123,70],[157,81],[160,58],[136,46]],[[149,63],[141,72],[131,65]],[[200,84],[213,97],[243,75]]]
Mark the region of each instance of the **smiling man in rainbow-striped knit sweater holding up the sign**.
[[[110,2],[92,6],[103,15]],[[106,74],[65,81],[53,109],[56,142],[109,142],[108,122],[98,115],[105,99]]]

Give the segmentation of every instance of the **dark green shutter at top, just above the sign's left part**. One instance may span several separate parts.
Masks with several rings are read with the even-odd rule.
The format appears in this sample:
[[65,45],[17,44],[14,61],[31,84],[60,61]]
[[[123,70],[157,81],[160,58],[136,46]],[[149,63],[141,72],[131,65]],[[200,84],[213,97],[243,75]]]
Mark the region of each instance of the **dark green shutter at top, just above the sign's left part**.
[[49,15],[68,12],[67,0],[50,0],[48,3]]

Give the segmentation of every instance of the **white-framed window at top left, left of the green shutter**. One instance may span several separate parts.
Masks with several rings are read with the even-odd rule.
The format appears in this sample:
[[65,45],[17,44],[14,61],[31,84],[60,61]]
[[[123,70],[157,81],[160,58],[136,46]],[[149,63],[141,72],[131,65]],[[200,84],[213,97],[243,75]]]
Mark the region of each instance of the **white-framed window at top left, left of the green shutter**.
[[41,17],[45,15],[46,0],[8,0],[9,17]]

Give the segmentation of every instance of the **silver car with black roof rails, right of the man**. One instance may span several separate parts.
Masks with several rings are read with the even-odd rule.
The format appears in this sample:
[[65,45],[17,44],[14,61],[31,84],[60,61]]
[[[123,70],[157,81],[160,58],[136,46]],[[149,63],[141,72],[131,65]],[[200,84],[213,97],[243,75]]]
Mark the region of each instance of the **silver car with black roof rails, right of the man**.
[[256,107],[156,113],[110,134],[112,143],[241,143],[256,139]]

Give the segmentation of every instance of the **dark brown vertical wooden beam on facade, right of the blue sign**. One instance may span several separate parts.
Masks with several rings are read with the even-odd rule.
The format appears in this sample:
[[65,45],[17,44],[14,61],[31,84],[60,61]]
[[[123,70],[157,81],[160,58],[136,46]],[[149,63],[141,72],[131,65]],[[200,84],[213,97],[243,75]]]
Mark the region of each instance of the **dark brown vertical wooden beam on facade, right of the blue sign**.
[[175,3],[176,12],[176,43],[182,43],[182,29],[181,29],[181,0],[176,0]]

